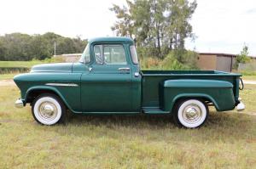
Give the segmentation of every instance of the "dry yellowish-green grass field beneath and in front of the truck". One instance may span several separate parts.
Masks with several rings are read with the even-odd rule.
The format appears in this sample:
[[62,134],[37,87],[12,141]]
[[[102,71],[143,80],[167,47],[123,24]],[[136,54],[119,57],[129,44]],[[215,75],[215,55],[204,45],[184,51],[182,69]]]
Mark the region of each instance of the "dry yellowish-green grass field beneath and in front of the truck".
[[179,129],[169,115],[71,115],[67,125],[38,125],[15,109],[16,87],[0,87],[0,168],[255,168],[256,86],[247,105],[211,114],[205,127]]

